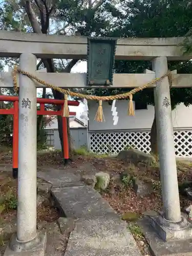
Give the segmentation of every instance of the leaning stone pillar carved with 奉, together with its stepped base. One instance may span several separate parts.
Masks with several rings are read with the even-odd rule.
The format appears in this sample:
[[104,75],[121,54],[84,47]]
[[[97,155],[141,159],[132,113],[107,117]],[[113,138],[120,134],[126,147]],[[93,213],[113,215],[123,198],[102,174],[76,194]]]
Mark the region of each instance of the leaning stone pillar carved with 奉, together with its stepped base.
[[[156,77],[167,72],[167,58],[156,57],[152,62]],[[157,139],[162,186],[163,212],[151,217],[151,224],[164,241],[169,239],[187,239],[191,237],[188,221],[181,215],[177,166],[170,104],[168,77],[156,83],[154,89]]]

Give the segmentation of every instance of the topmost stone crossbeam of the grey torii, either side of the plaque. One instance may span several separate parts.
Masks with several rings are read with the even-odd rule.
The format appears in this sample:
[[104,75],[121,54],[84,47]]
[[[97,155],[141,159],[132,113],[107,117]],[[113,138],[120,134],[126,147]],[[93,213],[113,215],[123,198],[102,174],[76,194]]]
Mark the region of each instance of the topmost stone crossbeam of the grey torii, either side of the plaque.
[[[167,56],[168,60],[191,59],[191,53],[183,54],[180,45],[183,40],[184,37],[119,38],[115,57],[120,60],[152,60],[157,56]],[[0,41],[1,57],[19,57],[25,49],[25,52],[31,52],[37,58],[87,58],[86,36],[1,31]]]

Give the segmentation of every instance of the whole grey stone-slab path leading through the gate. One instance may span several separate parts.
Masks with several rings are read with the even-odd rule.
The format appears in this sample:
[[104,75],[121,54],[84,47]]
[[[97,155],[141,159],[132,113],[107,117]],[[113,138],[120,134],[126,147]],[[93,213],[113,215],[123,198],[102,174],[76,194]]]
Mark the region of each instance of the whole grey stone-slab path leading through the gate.
[[52,183],[56,203],[75,219],[65,256],[141,256],[127,223],[79,176],[50,169],[37,177]]

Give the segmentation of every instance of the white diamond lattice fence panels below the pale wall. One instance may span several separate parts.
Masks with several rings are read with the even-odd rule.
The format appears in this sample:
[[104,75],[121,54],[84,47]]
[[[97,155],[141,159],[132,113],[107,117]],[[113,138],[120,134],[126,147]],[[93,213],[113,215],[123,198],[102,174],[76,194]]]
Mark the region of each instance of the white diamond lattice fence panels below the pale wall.
[[[151,152],[150,132],[93,132],[90,135],[90,150],[97,154],[118,154],[133,146],[145,153]],[[177,157],[192,156],[192,130],[174,131]]]

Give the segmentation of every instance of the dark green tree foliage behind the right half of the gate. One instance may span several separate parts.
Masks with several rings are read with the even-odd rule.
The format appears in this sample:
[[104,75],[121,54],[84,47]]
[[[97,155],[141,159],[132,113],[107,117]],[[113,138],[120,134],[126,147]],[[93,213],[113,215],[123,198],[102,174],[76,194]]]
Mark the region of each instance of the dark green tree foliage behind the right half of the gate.
[[[110,10],[110,8],[109,8]],[[181,0],[124,0],[119,4],[121,15],[115,23],[115,30],[110,36],[120,37],[176,37],[185,36],[188,32],[192,36],[192,8],[188,1]],[[114,15],[115,16],[115,15]],[[192,40],[184,42],[185,52],[192,51]],[[177,73],[192,73],[191,61],[169,61],[170,70],[177,69]],[[152,69],[151,61],[115,61],[115,73],[143,73],[144,69]],[[127,92],[129,89],[96,90],[97,95],[112,95],[113,93]],[[173,88],[170,90],[172,109],[177,104],[192,103],[192,89]],[[145,89],[134,95],[134,100],[154,104],[153,89]]]

